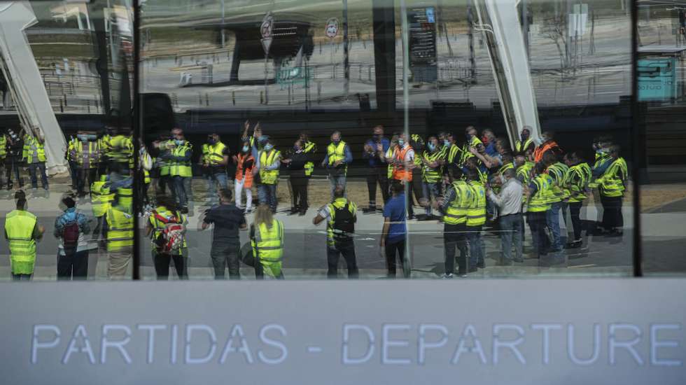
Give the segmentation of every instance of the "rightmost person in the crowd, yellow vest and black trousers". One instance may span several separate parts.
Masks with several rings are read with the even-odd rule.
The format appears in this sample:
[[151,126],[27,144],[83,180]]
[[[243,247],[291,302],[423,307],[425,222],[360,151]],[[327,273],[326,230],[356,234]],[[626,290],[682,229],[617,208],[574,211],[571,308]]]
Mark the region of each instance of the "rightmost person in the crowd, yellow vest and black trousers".
[[601,204],[603,204],[603,223],[605,235],[621,237],[624,227],[622,215],[622,200],[626,190],[626,179],[629,178],[629,170],[626,161],[619,156],[619,145],[614,144],[608,149],[610,166],[596,179],[595,183],[600,192]]

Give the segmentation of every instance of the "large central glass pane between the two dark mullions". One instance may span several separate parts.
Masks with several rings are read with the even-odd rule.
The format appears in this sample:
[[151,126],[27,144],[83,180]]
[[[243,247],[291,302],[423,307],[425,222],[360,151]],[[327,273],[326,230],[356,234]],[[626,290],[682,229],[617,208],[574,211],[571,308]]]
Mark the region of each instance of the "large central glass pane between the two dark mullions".
[[[615,171],[624,170],[623,163],[609,158],[610,148],[629,164],[633,160],[627,2],[524,1],[519,14],[502,7],[505,2],[500,1],[146,1],[141,6],[139,91],[143,138],[153,167],[144,220],[156,225],[150,232],[158,244],[139,245],[141,274],[147,279],[176,279],[177,274],[167,272],[170,259],[188,267],[181,275],[192,279],[213,278],[213,261],[221,262],[219,276],[227,274],[227,260],[235,261],[237,249],[250,238],[248,230],[228,230],[228,223],[237,226],[240,216],[227,211],[235,212],[232,201],[239,207],[245,204],[246,188],[236,186],[251,180],[251,172],[244,173],[249,167],[239,165],[246,165],[244,160],[252,155],[261,172],[251,180],[251,209],[258,195],[262,203],[276,198],[272,211],[285,231],[282,267],[288,278],[324,278],[327,271],[345,275],[344,258],[328,263],[328,212],[321,211],[316,218],[317,209],[332,202],[332,186],[337,183],[346,187],[347,198],[358,208],[353,239],[361,277],[386,276],[386,252],[395,251],[398,260],[399,247],[412,277],[437,278],[445,272],[446,248],[456,246],[469,248],[474,265],[484,266],[469,272],[463,262],[467,276],[630,275],[631,205],[620,208],[622,202],[631,202],[630,189],[623,190],[629,176],[601,179],[603,186],[587,190],[587,183],[601,178],[601,169],[594,165],[594,144],[601,144],[606,151],[602,156],[608,157],[602,163],[615,164]],[[533,146],[539,151],[515,148],[525,125],[531,126]],[[467,137],[465,129],[470,126],[475,135]],[[179,131],[172,132],[174,127]],[[550,139],[546,143],[541,140],[544,134]],[[421,162],[430,137],[436,137],[431,141],[439,153],[428,151],[429,160]],[[404,145],[388,151],[395,138],[412,146],[416,158]],[[486,142],[481,150],[475,145],[479,139]],[[472,156],[468,140],[482,153]],[[444,141],[449,146],[440,153]],[[530,220],[524,222],[524,262],[500,266],[501,236],[512,234],[509,229],[519,228],[522,221],[499,218],[503,209],[497,209],[491,197],[472,203],[482,191],[477,169],[498,193],[504,190],[498,186],[503,160],[512,164],[517,152],[524,157],[514,162],[543,160],[542,150],[555,147],[553,141],[561,151],[548,151],[556,156],[547,155],[549,164],[539,170],[542,175],[535,186],[543,187],[531,190],[533,203],[528,206],[538,205],[542,211],[528,214]],[[453,143],[456,153],[449,153]],[[279,151],[281,162],[267,144]],[[248,151],[241,153],[244,146]],[[433,155],[440,162],[433,162]],[[311,176],[307,162],[314,167]],[[584,162],[589,165],[582,167]],[[454,167],[448,167],[450,163]],[[579,174],[568,172],[569,166],[580,169]],[[525,167],[534,168],[533,162]],[[592,167],[597,175],[584,174]],[[456,215],[447,207],[457,202],[428,210],[427,206],[454,197],[448,194],[452,181],[442,176],[448,169],[455,170],[456,179],[461,174],[475,179],[464,187],[470,198],[462,202],[476,205],[465,207],[469,228],[461,221],[448,227],[440,221],[445,211]],[[544,174],[554,176],[559,186],[547,188],[552,182]],[[519,175],[529,178],[526,172]],[[412,178],[411,183],[400,184],[397,205],[388,201],[393,196],[389,177]],[[439,192],[425,197],[427,180],[426,190]],[[484,196],[489,186],[482,187]],[[221,200],[218,187],[228,187],[232,195],[238,191],[241,199],[227,193],[226,204],[212,209]],[[566,190],[579,202],[565,202]],[[305,191],[307,199],[293,202]],[[609,215],[605,219],[608,234],[596,226],[603,219],[601,195],[605,211],[613,213],[611,220]],[[156,214],[161,215],[155,216],[160,201],[174,209],[160,207]],[[346,218],[347,206],[339,202],[341,207],[333,211]],[[487,214],[481,225],[484,202]],[[555,214],[547,214],[549,205]],[[407,237],[384,238],[384,206],[388,218],[402,222],[407,216]],[[577,208],[580,221],[572,221],[571,211],[576,213]],[[467,214],[462,210],[458,216]],[[260,221],[272,223],[263,214],[249,212],[247,228]],[[622,214],[624,225],[617,223]],[[324,221],[314,225],[313,220],[320,219]],[[181,221],[183,226],[175,223]],[[333,229],[342,232],[336,237],[344,244],[349,232],[345,229],[351,230],[345,222]],[[205,230],[202,223],[207,223]],[[395,225],[401,223],[391,225],[392,234],[405,232]],[[186,246],[173,246],[174,236],[162,234],[172,226],[186,229]],[[255,237],[269,233],[257,228]],[[531,228],[540,242],[552,239],[554,244],[549,253],[541,248],[545,255],[540,258]],[[575,234],[575,228],[584,231]],[[564,248],[577,237],[580,241]],[[385,249],[379,247],[382,238]],[[400,239],[404,244],[398,243]],[[164,241],[173,247],[160,246]],[[268,262],[278,257],[278,252],[269,251],[278,245],[263,242],[265,274],[279,275],[270,270],[277,265]],[[243,262],[239,266],[242,275],[255,275]],[[341,268],[334,272],[333,267]]]

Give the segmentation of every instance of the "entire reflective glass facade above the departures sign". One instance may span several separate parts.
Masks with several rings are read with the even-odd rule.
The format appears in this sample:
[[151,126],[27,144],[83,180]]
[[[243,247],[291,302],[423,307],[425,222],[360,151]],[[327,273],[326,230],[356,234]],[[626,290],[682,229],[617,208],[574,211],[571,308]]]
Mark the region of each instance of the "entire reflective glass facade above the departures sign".
[[0,279],[32,239],[33,279],[685,269],[680,10],[29,4],[0,8]]

